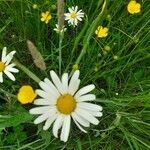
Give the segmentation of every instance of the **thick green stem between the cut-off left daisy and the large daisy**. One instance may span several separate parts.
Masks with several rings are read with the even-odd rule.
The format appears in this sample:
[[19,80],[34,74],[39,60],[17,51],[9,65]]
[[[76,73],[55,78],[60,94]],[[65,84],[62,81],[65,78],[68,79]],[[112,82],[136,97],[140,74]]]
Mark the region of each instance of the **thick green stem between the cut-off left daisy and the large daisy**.
[[31,72],[27,67],[22,65],[18,60],[14,60],[14,63],[23,71],[25,72],[31,79],[33,79],[35,82],[39,83],[41,80],[33,73]]

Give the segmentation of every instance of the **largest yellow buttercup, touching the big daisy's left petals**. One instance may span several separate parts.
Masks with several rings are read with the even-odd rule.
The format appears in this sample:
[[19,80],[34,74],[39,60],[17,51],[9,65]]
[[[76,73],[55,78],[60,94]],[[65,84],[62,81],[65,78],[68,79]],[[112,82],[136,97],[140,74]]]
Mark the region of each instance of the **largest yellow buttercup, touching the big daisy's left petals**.
[[19,89],[17,98],[22,104],[32,103],[37,94],[30,85],[24,85]]

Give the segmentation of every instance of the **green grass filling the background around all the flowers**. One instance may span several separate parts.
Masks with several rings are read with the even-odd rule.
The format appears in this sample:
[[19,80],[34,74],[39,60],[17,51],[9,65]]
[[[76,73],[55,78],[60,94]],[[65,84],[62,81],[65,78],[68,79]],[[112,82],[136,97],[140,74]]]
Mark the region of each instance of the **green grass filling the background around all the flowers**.
[[[96,103],[103,106],[98,126],[88,134],[72,123],[67,143],[54,138],[51,129],[33,124],[29,115],[32,105],[21,105],[16,94],[23,84],[38,84],[24,72],[16,82],[5,78],[0,85],[0,149],[6,150],[149,150],[150,149],[150,2],[139,1],[141,13],[127,12],[128,0],[67,0],[65,10],[78,5],[86,18],[77,28],[67,26],[62,45],[62,72],[71,72],[79,64],[81,85],[94,83]],[[32,5],[37,3],[39,9]],[[56,1],[0,0],[0,49],[16,50],[16,58],[41,80],[49,71],[59,72],[59,37],[53,31],[57,23]],[[50,10],[53,19],[48,25],[40,14]],[[110,17],[108,16],[110,15]],[[108,18],[109,17],[109,18]],[[98,25],[108,26],[109,35],[98,39]],[[26,41],[31,40],[42,54],[47,69],[33,63]],[[106,53],[105,46],[110,47]],[[114,56],[118,56],[115,60]],[[116,95],[118,93],[118,95]]]

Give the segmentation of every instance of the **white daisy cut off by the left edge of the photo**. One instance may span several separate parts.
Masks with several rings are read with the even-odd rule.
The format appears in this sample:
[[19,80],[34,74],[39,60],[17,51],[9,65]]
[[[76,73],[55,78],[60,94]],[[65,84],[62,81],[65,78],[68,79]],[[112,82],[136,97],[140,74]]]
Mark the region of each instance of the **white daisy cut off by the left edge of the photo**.
[[9,79],[15,81],[15,77],[12,73],[19,72],[18,69],[14,68],[15,66],[14,63],[10,64],[16,51],[12,51],[8,55],[6,53],[7,53],[7,48],[4,47],[2,51],[2,57],[0,60],[0,83],[3,82],[3,73],[5,73]]

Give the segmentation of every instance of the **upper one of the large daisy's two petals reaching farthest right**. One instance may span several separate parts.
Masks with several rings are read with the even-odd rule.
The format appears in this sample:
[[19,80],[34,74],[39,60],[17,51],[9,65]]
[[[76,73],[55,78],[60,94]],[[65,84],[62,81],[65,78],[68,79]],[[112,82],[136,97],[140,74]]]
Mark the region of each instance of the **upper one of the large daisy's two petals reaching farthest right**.
[[77,107],[91,111],[102,111],[103,109],[102,106],[86,102],[77,103]]

